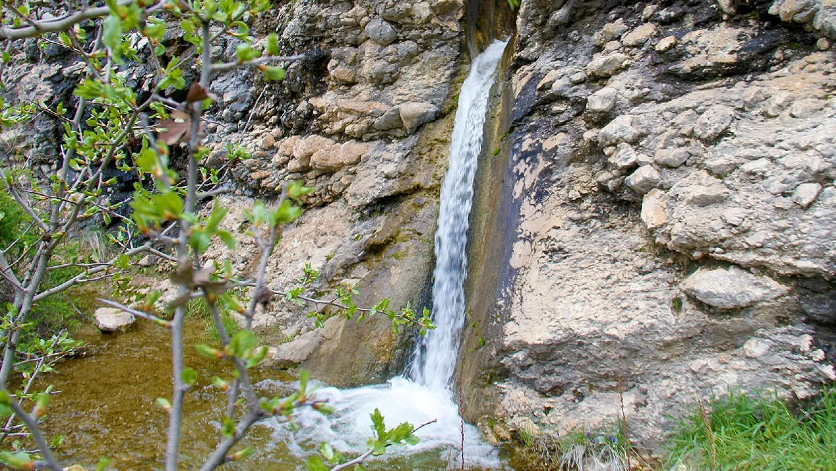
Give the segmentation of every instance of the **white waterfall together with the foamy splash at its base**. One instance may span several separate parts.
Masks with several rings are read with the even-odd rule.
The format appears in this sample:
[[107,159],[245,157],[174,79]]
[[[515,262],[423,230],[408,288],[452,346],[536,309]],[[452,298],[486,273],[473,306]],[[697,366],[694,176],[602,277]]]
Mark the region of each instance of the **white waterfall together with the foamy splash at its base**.
[[[277,429],[277,438],[288,443],[294,453],[304,454],[305,449],[320,442],[331,443],[344,453],[363,453],[372,436],[369,415],[379,408],[387,428],[403,422],[418,426],[436,420],[416,433],[421,443],[387,450],[386,456],[441,449],[442,461],[452,468],[461,466],[462,422],[451,387],[465,320],[467,228],[489,94],[505,45],[495,41],[474,58],[470,75],[461,85],[436,231],[432,313],[437,328],[416,348],[411,379],[395,377],[386,384],[346,390],[319,389],[316,397],[328,399],[334,413],[323,416],[299,411],[294,416],[301,426],[298,432],[288,434]],[[497,450],[482,442],[477,428],[466,423],[463,428],[466,466],[501,467]]]

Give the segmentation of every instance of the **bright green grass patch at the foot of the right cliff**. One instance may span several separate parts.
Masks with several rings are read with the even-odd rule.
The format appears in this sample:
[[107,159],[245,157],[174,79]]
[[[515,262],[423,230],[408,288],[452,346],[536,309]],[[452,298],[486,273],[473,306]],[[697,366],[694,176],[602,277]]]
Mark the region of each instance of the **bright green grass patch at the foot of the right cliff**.
[[797,408],[729,393],[682,420],[669,448],[673,469],[836,470],[836,387]]

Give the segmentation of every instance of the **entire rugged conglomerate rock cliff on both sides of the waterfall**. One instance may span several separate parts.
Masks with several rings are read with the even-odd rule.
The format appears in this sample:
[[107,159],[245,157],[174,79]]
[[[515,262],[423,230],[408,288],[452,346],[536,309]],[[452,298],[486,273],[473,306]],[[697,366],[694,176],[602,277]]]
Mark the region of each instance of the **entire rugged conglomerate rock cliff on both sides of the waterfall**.
[[[227,226],[246,230],[253,197],[303,180],[315,192],[270,285],[309,262],[323,288],[359,282],[364,304],[420,305],[468,48],[511,13],[502,0],[296,0],[268,17],[254,35],[312,53],[280,84],[247,70],[212,84],[205,164],[236,189],[220,199]],[[561,433],[614,423],[623,400],[631,438],[657,448],[696,400],[804,398],[833,380],[833,39],[831,0],[523,0],[472,216],[467,418],[499,423],[499,438]],[[83,66],[34,43],[17,53],[31,66],[6,71],[7,94],[69,98]],[[42,117],[0,150],[33,157],[58,132]],[[227,143],[252,157],[226,160]],[[255,266],[252,242],[212,250],[242,276]],[[277,347],[301,334],[277,361],[337,386],[383,381],[411,351],[385,319],[314,330],[274,302],[257,325],[278,330]]]

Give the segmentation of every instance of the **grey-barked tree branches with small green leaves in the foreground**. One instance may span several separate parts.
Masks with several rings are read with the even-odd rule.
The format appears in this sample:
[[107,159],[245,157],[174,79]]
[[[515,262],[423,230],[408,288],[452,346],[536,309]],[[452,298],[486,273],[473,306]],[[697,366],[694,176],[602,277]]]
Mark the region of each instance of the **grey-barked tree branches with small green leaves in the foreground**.
[[[68,49],[84,63],[85,69],[69,103],[0,101],[3,128],[23,126],[37,114],[46,113],[59,121],[64,132],[58,153],[40,156],[41,160],[58,164],[58,170],[47,181],[35,178],[26,161],[0,168],[3,189],[19,205],[29,223],[29,236],[21,236],[0,250],[0,276],[14,293],[13,302],[5,308],[5,321],[0,323],[3,345],[0,415],[9,418],[7,429],[12,427],[13,418],[21,421],[40,455],[38,458],[22,451],[0,453],[0,462],[14,468],[61,469],[38,424],[47,407],[48,393],[31,394],[28,387],[26,393],[18,396],[6,392],[14,369],[22,365],[18,346],[33,306],[84,282],[127,276],[130,261],[147,252],[175,263],[170,280],[177,287],[176,299],[161,306],[160,294],[152,292],[132,306],[118,301],[103,302],[171,332],[172,393],[170,398],[157,399],[157,405],[166,410],[169,418],[166,471],[178,469],[184,398],[197,381],[197,372],[183,363],[186,348],[183,323],[191,299],[206,300],[220,339],[219,347],[194,347],[201,354],[232,366],[231,378],[215,377],[212,381],[227,393],[228,401],[226,410],[222,411],[217,446],[201,465],[201,470],[206,471],[252,453],[247,448],[233,450],[252,425],[264,418],[292,421],[298,408],[330,411],[329,405],[309,390],[307,372],[300,373],[298,388],[288,397],[262,398],[254,390],[249,371],[263,361],[267,347],[257,345],[252,322],[258,306],[266,304],[266,299],[280,296],[288,302],[329,306],[344,317],[358,321],[381,313],[390,318],[393,329],[416,327],[421,335],[434,328],[429,311],[419,314],[410,306],[395,311],[388,299],[372,307],[357,306],[353,301],[357,294],[354,286],[338,286],[334,296],[324,298],[308,292],[319,276],[310,266],[306,266],[299,286],[285,291],[267,286],[268,262],[274,256],[282,227],[298,219],[303,211],[303,196],[312,190],[298,183],[285,185],[273,205],[256,202],[247,212],[252,236],[261,252],[254,280],[233,276],[229,264],[206,263],[205,254],[212,243],[223,243],[230,248],[237,244],[236,237],[222,229],[227,209],[218,200],[212,200],[211,211],[201,210],[202,201],[228,191],[220,186],[217,174],[209,176],[200,166],[208,154],[201,124],[206,110],[218,101],[211,91],[212,76],[237,68],[252,68],[262,73],[264,79],[281,80],[284,69],[278,64],[304,58],[303,54],[281,53],[276,33],[268,35],[263,48],[254,46],[250,19],[272,8],[268,0],[107,0],[104,5],[69,12],[48,11],[48,6],[32,10],[26,5],[16,6],[12,0],[3,0],[2,8],[0,41],[6,43],[3,63],[12,62],[10,50],[15,47],[15,41],[36,38]],[[137,33],[145,40],[142,47],[130,40]],[[172,55],[163,45],[166,33],[174,33],[175,37],[191,43],[192,48],[180,56]],[[212,46],[221,38],[237,43],[235,57],[215,62]],[[131,67],[144,67],[153,80],[144,89],[132,89],[120,73]],[[186,77],[190,75],[197,78],[187,86]],[[175,90],[185,90],[185,99],[173,99],[169,92]],[[185,175],[177,175],[171,170],[170,162],[173,153],[182,151],[186,154]],[[113,169],[134,175],[140,182],[135,184],[128,216],[118,211],[121,202],[111,203],[106,199],[108,189],[118,184],[114,178],[105,179],[104,175]],[[99,216],[101,223],[111,225],[115,221],[118,227],[115,236],[109,234],[111,243],[117,247],[115,256],[64,260],[62,247],[69,238]],[[52,286],[45,286],[50,271],[64,269],[75,272]],[[246,306],[238,298],[239,293],[249,296]],[[243,317],[242,331],[234,335],[227,332],[222,322],[226,311],[237,311]],[[324,321],[319,311],[309,317],[314,318],[317,326]],[[45,352],[33,362],[34,374],[45,371],[48,362],[60,356],[53,353]],[[25,412],[27,402],[34,402],[32,413]],[[322,471],[354,466],[384,453],[391,445],[416,443],[415,431],[427,425],[415,428],[402,423],[387,429],[378,411],[372,414],[371,422],[375,437],[370,439],[368,452],[349,458],[324,444],[319,448],[319,455],[308,460],[308,468]],[[104,466],[106,463],[100,464],[100,468]]]

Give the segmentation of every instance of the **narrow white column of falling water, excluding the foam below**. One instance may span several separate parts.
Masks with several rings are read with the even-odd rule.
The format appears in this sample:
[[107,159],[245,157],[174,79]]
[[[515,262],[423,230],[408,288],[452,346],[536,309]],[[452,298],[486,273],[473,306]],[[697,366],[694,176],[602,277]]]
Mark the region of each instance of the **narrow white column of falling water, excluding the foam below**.
[[467,228],[491,87],[506,43],[496,41],[479,54],[461,85],[450,146],[450,167],[441,183],[441,210],[436,230],[436,270],[432,285],[432,316],[438,327],[427,334],[410,376],[426,387],[451,385],[465,322],[464,281],[467,270]]

